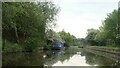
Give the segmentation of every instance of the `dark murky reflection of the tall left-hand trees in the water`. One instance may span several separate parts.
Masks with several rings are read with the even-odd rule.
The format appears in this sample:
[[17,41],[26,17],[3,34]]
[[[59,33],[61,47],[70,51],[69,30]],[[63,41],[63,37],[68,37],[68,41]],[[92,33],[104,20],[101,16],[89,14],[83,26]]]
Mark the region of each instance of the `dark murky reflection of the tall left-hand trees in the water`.
[[[36,55],[37,54],[37,55]],[[7,53],[3,54],[3,66],[43,66],[44,59],[38,53]]]

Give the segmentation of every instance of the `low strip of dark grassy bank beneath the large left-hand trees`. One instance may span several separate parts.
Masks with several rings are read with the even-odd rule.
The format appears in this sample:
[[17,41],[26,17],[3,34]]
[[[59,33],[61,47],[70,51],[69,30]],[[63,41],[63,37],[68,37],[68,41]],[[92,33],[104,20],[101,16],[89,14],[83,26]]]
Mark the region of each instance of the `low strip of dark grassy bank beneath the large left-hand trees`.
[[22,43],[13,43],[6,41],[4,45],[1,46],[2,52],[38,52],[38,50],[43,49],[42,46],[35,45],[25,45]]

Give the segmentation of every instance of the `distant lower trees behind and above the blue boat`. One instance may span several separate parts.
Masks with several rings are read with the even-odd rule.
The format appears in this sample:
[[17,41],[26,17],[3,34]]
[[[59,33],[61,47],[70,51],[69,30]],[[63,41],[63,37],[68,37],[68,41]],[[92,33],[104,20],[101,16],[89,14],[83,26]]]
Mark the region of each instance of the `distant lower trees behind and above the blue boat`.
[[64,47],[80,45],[80,42],[77,40],[77,38],[74,35],[70,34],[69,32],[65,32],[64,30],[62,30],[60,32],[55,32],[53,30],[49,30],[47,32],[47,38],[48,38],[48,40],[49,39],[54,40],[54,41],[51,41],[51,43],[49,43],[47,46],[45,46],[48,48],[56,42],[63,42]]

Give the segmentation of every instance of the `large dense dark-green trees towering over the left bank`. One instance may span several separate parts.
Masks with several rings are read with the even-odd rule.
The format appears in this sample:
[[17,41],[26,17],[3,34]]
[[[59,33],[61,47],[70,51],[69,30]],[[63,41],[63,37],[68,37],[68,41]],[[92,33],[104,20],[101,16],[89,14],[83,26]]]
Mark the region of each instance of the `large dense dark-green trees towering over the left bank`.
[[45,45],[47,24],[58,12],[52,2],[3,2],[2,9],[3,49],[5,40],[28,51]]

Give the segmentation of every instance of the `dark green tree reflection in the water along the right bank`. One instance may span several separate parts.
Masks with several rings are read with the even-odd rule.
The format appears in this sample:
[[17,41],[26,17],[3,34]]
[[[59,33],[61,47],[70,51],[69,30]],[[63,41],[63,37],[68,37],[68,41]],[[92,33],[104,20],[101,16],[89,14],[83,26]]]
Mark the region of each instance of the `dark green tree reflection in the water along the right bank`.
[[[95,54],[95,52],[91,53],[88,51],[84,51],[86,56],[86,63],[90,65],[98,64],[99,66],[119,66],[120,61],[115,58],[109,57],[109,55],[102,56],[99,54]],[[106,54],[106,53],[104,53]]]

